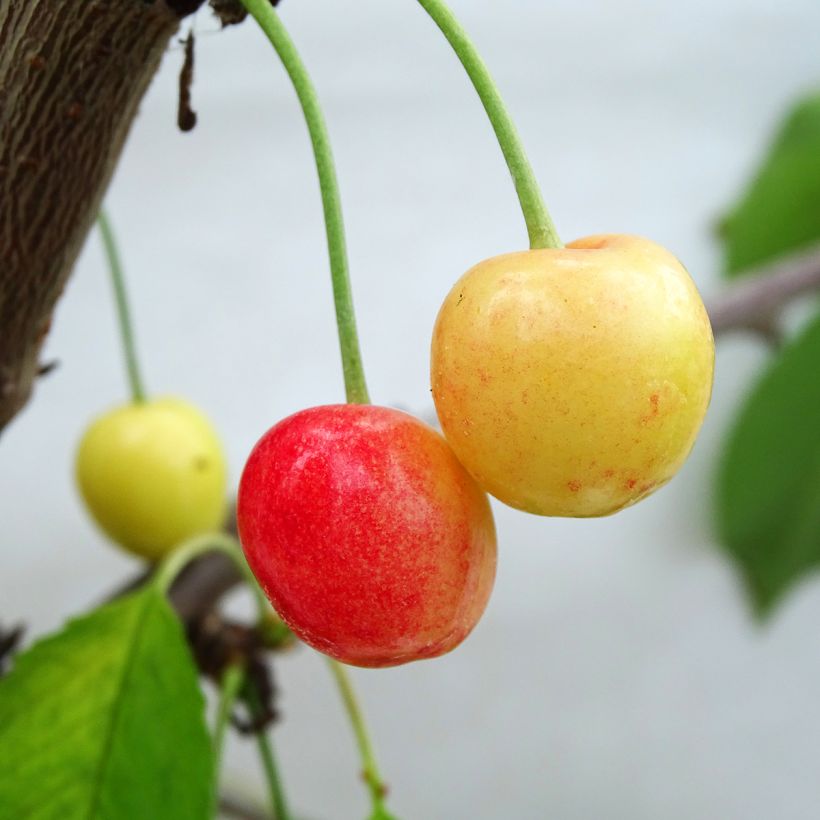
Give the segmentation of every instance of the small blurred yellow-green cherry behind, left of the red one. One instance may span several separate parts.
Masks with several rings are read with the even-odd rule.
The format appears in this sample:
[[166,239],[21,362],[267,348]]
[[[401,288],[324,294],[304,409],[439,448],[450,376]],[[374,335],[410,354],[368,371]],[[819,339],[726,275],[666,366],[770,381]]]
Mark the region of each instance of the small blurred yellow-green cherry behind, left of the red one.
[[127,404],[98,418],[80,441],[76,475],[102,530],[152,561],[225,519],[219,439],[205,416],[179,399]]

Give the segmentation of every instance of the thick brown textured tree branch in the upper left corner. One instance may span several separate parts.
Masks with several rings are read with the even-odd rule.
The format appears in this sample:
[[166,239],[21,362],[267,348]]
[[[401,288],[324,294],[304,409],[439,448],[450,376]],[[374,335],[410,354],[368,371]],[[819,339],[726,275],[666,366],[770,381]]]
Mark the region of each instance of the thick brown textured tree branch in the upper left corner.
[[0,0],[0,429],[29,397],[137,107],[196,5]]

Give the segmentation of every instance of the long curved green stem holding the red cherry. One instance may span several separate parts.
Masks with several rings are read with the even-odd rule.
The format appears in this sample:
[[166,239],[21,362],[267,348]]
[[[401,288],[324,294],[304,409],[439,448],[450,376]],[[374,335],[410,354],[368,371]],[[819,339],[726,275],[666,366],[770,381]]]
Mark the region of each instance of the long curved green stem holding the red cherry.
[[327,245],[330,254],[330,274],[333,280],[333,299],[336,306],[336,324],[339,329],[339,344],[342,351],[347,400],[356,404],[367,404],[367,384],[362,368],[362,354],[356,331],[356,316],[353,310],[353,296],[348,272],[347,248],[345,243],[342,202],[336,167],[330,150],[327,125],[319,105],[316,90],[308,76],[299,52],[290,35],[274,11],[270,0],[242,0],[242,4],[254,17],[262,31],[270,40],[279,59],[293,83],[299,104],[305,115],[316,169],[319,172],[319,186],[322,192]]

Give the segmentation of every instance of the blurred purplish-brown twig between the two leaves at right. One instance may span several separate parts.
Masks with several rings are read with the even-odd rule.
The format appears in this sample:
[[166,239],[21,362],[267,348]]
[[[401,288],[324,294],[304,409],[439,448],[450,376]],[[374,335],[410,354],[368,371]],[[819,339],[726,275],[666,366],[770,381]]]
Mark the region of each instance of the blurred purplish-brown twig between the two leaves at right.
[[733,330],[761,333],[774,315],[799,296],[820,290],[820,245],[746,274],[709,308],[715,336]]

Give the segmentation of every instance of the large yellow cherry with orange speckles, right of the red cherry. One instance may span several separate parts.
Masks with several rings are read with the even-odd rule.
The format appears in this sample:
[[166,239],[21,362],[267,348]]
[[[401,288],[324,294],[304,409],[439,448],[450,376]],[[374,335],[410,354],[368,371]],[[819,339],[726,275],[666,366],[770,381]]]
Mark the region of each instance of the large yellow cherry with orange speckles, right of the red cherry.
[[686,269],[636,236],[591,236],[469,270],[436,321],[433,398],[479,485],[539,515],[616,512],[685,461],[714,340]]

